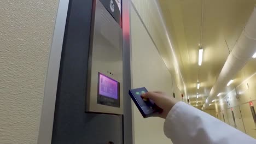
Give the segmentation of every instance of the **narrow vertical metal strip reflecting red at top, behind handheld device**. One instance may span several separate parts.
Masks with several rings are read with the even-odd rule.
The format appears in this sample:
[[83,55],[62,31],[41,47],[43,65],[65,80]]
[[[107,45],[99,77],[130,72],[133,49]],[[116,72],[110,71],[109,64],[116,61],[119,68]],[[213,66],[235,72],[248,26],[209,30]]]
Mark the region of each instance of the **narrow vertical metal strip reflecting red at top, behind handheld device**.
[[123,26],[123,92],[124,92],[124,115],[123,115],[123,141],[124,144],[135,143],[133,141],[132,125],[132,101],[128,92],[131,89],[131,0],[122,2],[122,26]]

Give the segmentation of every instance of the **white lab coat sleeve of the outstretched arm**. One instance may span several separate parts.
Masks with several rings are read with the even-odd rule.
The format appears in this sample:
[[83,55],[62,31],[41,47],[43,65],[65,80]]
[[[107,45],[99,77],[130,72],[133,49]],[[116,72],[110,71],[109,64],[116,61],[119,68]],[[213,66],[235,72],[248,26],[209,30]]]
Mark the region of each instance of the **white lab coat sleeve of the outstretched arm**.
[[183,102],[175,104],[168,113],[164,132],[174,144],[256,143],[245,133]]

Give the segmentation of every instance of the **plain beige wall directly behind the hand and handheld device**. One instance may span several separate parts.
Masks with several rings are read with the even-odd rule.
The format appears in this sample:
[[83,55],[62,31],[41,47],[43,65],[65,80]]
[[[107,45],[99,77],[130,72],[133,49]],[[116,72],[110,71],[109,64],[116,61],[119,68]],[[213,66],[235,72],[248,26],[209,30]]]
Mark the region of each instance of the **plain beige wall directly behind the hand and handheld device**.
[[[133,7],[131,8],[131,46],[132,87],[146,87],[148,91],[163,91],[172,97],[172,75]],[[173,84],[176,98],[182,100],[176,83]],[[132,119],[135,144],[171,143],[164,134],[164,119],[143,118],[134,104]]]

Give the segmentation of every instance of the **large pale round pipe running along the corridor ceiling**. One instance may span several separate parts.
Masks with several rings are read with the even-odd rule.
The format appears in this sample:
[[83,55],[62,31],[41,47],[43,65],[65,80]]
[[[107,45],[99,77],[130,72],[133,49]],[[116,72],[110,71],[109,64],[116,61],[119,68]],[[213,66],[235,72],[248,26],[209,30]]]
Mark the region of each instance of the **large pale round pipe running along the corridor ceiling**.
[[212,100],[217,98],[219,92],[222,92],[227,83],[234,79],[234,76],[240,71],[246,62],[252,58],[256,52],[256,7],[249,18],[245,28],[237,40],[234,49],[231,51],[228,59],[220,71],[217,81],[212,87],[208,98],[203,105],[203,110],[207,109]]

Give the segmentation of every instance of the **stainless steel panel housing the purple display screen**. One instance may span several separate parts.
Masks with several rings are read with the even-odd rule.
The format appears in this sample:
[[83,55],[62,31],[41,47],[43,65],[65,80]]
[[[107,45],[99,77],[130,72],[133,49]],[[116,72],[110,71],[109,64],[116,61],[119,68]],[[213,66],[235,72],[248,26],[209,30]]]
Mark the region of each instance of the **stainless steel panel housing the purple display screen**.
[[[94,23],[89,51],[86,111],[121,115],[123,114],[122,29],[98,0],[95,20],[92,21]],[[104,87],[101,87],[101,76],[117,83],[112,85],[117,90],[114,91],[117,92],[114,94],[116,97],[102,97],[100,88]],[[111,91],[113,89],[110,88],[110,93]]]

